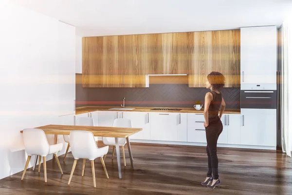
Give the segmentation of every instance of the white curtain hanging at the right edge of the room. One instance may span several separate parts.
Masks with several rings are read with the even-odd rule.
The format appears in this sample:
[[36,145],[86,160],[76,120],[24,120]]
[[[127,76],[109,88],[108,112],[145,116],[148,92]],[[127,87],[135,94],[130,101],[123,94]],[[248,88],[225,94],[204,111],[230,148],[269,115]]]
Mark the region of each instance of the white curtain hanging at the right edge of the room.
[[[291,157],[292,132],[292,22],[283,22],[281,29],[281,116],[282,116],[282,150]],[[289,68],[290,67],[290,68]],[[290,76],[290,78],[289,78]],[[289,104],[290,102],[290,104]]]

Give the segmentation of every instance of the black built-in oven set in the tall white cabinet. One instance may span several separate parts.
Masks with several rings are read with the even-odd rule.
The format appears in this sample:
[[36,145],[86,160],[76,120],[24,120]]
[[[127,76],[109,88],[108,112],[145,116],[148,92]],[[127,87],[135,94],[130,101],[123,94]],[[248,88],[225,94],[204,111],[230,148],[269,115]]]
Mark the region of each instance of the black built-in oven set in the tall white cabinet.
[[241,90],[240,107],[257,109],[277,108],[276,90]]

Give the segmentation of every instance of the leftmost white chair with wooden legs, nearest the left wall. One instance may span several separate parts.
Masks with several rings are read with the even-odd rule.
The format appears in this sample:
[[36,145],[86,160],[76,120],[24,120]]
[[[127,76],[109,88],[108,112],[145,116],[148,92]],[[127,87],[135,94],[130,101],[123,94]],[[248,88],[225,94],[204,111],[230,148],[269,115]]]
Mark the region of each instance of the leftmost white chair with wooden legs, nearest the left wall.
[[61,171],[61,174],[63,174],[57,153],[62,150],[63,143],[58,143],[55,145],[49,145],[47,137],[43,130],[40,129],[24,129],[23,130],[23,142],[24,142],[24,148],[28,155],[24,171],[21,177],[21,180],[23,180],[23,177],[25,175],[27,166],[29,164],[29,161],[31,159],[32,155],[38,155],[39,161],[38,161],[38,172],[40,172],[40,161],[41,157],[43,157],[43,166],[44,166],[44,175],[45,175],[45,182],[47,182],[47,164],[46,164],[46,156],[53,154],[56,158],[57,164],[59,166],[59,169]]

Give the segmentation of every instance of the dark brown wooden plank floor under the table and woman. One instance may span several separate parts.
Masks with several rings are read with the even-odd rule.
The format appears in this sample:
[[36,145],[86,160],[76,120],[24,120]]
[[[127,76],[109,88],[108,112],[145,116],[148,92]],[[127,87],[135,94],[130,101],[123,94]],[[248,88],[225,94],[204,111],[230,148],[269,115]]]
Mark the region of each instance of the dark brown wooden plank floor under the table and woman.
[[90,161],[86,161],[82,177],[80,159],[68,186],[73,165],[69,153],[66,163],[64,156],[59,157],[63,176],[51,160],[47,162],[47,184],[43,167],[39,174],[31,168],[23,181],[22,172],[1,179],[0,195],[292,195],[292,158],[282,153],[219,148],[221,186],[212,191],[201,186],[207,171],[204,147],[138,143],[131,146],[135,169],[131,169],[126,151],[128,166],[122,166],[123,179],[118,178],[116,158],[111,160],[110,148],[105,160],[110,179],[106,178],[100,159],[96,159],[94,188]]

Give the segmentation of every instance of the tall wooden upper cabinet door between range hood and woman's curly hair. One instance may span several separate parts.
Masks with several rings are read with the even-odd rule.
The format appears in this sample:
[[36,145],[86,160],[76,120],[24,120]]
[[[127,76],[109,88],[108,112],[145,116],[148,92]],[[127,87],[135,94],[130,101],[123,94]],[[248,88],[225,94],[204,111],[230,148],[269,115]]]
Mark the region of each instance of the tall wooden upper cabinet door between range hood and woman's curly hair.
[[206,77],[212,70],[212,32],[195,32],[189,40],[189,87],[205,87]]

